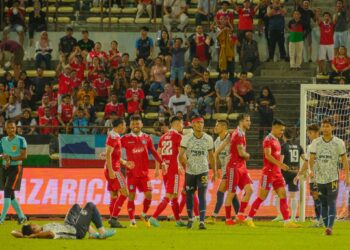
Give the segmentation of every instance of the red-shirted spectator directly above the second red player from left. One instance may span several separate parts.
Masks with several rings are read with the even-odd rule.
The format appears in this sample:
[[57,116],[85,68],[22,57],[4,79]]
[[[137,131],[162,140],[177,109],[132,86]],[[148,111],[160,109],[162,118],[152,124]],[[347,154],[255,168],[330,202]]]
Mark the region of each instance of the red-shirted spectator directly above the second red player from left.
[[131,88],[129,88],[125,93],[125,98],[128,104],[129,114],[139,114],[142,112],[143,99],[145,99],[145,94],[142,89],[138,88],[138,81],[134,78],[131,79]]

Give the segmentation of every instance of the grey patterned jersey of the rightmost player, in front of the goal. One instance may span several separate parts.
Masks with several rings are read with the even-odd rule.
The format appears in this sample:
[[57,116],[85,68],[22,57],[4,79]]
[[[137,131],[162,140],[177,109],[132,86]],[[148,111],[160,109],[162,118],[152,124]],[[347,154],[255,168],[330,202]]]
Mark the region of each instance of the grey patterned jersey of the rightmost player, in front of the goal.
[[316,183],[327,184],[339,179],[339,158],[346,154],[343,140],[334,136],[325,142],[323,137],[319,137],[311,143],[310,154],[315,154]]

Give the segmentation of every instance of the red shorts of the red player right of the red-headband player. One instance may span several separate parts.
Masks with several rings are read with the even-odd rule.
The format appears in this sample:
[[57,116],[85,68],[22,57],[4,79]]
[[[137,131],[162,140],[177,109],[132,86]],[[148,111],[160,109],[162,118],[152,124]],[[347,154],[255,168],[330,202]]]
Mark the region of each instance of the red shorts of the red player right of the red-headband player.
[[226,169],[226,190],[229,192],[236,192],[239,187],[243,190],[246,185],[252,184],[246,168],[227,168]]

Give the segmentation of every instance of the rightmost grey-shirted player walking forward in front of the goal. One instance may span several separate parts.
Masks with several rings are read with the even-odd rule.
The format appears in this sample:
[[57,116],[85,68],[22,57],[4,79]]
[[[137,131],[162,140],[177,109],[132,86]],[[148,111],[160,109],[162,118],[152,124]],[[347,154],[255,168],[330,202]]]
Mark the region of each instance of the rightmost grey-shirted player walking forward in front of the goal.
[[336,216],[336,201],[339,188],[339,163],[345,173],[345,183],[350,185],[349,162],[345,143],[333,136],[333,122],[326,118],[321,123],[322,136],[310,146],[310,176],[315,176],[322,206],[322,219],[326,227],[325,234],[332,235]]

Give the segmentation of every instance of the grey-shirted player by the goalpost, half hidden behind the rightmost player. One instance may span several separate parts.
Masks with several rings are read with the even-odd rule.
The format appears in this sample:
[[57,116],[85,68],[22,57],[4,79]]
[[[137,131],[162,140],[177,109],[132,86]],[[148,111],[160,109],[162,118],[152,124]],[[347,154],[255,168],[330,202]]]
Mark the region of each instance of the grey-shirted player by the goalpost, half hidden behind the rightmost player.
[[[310,144],[306,147],[305,161],[301,169],[299,170],[297,176],[294,179],[294,183],[297,183],[301,176],[306,177],[309,174],[309,158],[310,158],[310,145],[320,136],[320,127],[317,124],[311,124],[307,128],[307,137]],[[309,176],[310,194],[314,200],[314,209],[316,215],[316,222],[313,227],[323,227],[323,220],[321,218],[321,201],[318,197],[317,183],[314,177]]]

